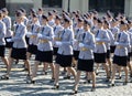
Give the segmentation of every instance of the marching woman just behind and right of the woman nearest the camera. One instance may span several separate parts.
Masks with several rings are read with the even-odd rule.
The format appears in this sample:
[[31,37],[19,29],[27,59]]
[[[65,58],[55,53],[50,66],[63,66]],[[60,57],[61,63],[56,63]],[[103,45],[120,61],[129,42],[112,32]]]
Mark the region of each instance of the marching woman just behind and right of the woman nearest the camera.
[[[96,49],[95,49],[95,62],[97,66],[102,63],[107,73],[107,81],[110,78],[109,67],[106,63],[107,58],[107,46],[105,43],[110,42],[108,32],[103,30],[103,22],[98,19],[98,28],[99,30],[96,33]],[[97,70],[96,70],[97,72]]]

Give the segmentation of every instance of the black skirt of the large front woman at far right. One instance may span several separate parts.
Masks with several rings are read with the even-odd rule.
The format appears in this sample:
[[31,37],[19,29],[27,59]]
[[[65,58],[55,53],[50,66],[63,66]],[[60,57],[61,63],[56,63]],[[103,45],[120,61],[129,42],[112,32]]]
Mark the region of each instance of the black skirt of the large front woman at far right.
[[119,66],[127,66],[128,63],[128,56],[113,56],[113,64],[117,64]]

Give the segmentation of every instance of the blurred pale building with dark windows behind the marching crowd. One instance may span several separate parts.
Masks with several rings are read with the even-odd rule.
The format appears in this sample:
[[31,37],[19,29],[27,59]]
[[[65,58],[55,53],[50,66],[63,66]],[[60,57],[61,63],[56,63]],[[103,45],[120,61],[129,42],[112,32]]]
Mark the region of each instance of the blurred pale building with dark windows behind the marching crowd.
[[81,12],[92,11],[94,9],[99,12],[110,10],[114,13],[125,13],[132,17],[132,0],[0,0],[0,8],[7,7],[10,13],[19,8],[40,8],[45,10],[80,10]]

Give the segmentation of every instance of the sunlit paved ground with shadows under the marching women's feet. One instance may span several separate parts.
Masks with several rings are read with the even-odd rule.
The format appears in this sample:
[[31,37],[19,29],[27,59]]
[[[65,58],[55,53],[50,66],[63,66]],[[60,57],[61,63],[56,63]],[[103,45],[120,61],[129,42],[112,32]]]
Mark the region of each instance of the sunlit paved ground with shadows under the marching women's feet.
[[[33,61],[31,62],[33,65]],[[0,76],[4,74],[4,64],[0,61]],[[42,74],[42,65],[36,77],[35,84],[26,84],[25,72],[23,71],[23,63],[20,61],[18,65],[13,64],[11,77],[9,81],[0,81],[0,96],[69,96],[74,86],[74,79],[63,79],[61,75],[61,88],[58,90],[52,89],[53,85],[50,83],[51,70],[47,75]],[[62,68],[61,68],[62,70]],[[132,96],[132,83],[123,85],[124,75],[122,79],[117,81],[114,87],[109,87],[105,82],[105,72],[100,68],[97,76],[97,90],[90,92],[91,84],[82,84],[85,81],[84,73],[81,75],[79,92],[76,96]],[[122,73],[123,74],[123,73]]]

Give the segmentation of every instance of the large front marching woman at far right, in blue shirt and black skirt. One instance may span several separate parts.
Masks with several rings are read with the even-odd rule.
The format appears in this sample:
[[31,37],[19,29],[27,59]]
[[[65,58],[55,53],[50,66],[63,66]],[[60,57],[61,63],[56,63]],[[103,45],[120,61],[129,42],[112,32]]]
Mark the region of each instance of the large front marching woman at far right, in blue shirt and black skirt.
[[117,68],[120,70],[123,67],[125,73],[124,85],[128,83],[128,46],[130,45],[130,38],[127,33],[127,22],[121,21],[120,23],[120,33],[117,35],[116,51],[113,56],[113,66],[112,66],[112,76],[111,76],[111,86],[114,86],[114,76]]

